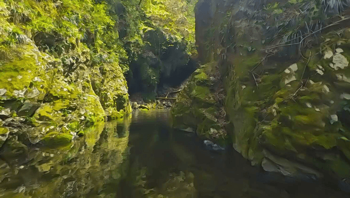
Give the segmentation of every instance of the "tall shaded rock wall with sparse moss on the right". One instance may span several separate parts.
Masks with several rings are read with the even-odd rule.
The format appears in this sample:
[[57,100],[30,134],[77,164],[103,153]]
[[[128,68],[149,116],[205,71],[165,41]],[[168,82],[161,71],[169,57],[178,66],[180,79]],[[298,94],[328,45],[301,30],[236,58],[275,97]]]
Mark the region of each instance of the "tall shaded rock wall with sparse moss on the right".
[[[218,66],[225,129],[253,165],[288,176],[350,177],[348,5],[198,2],[199,57]],[[175,120],[188,115],[181,109],[175,106]],[[197,132],[202,122],[192,124]]]

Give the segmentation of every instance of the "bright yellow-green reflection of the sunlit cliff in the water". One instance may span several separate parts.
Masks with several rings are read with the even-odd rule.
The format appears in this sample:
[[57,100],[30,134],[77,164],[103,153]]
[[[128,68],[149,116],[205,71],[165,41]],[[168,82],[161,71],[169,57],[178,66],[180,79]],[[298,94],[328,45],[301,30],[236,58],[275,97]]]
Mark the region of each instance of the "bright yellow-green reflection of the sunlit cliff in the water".
[[125,121],[117,131],[117,122],[109,122],[88,128],[84,141],[28,151],[28,163],[19,167],[17,173],[7,169],[3,174],[11,181],[1,183],[1,192],[23,198],[114,198],[114,187],[127,169],[124,162],[128,156],[128,125]]

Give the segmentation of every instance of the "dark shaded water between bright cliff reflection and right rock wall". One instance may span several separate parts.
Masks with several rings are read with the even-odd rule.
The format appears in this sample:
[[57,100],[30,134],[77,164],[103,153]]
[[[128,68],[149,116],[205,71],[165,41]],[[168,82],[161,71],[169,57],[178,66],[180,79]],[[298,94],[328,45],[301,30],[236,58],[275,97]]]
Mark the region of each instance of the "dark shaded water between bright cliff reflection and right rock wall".
[[163,111],[139,112],[130,125],[129,172],[119,198],[347,198],[336,185],[266,173],[228,148],[205,149],[172,131]]

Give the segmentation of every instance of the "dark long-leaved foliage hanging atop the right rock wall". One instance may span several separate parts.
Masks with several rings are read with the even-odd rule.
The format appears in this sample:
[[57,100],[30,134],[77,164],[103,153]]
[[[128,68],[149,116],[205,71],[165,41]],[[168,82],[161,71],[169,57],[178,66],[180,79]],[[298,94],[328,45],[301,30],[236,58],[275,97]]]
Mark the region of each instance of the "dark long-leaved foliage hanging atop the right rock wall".
[[282,44],[295,44],[304,41],[303,38],[311,32],[310,36],[316,38],[319,30],[329,24],[327,19],[335,14],[341,15],[349,5],[350,0],[289,0],[287,3],[267,4],[256,16],[274,16],[273,22],[268,24],[273,38],[281,38]]

